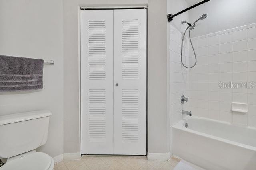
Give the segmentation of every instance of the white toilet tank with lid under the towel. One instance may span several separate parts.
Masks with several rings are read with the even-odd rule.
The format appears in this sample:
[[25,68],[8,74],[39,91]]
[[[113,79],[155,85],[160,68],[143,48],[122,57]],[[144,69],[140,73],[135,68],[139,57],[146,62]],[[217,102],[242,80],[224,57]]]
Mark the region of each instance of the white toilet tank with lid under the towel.
[[0,116],[0,158],[10,158],[44,145],[47,140],[48,110]]

